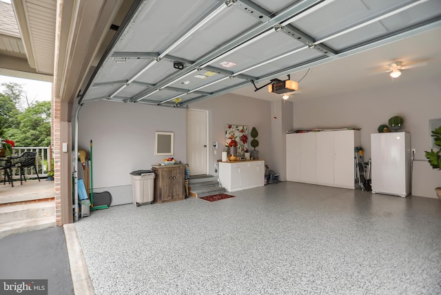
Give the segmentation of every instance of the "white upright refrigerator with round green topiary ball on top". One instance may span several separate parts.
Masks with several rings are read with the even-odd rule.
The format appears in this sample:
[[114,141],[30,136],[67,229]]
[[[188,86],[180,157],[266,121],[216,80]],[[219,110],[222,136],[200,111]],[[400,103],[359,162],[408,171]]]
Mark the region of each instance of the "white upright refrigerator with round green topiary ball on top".
[[411,134],[371,134],[371,160],[373,194],[411,194]]

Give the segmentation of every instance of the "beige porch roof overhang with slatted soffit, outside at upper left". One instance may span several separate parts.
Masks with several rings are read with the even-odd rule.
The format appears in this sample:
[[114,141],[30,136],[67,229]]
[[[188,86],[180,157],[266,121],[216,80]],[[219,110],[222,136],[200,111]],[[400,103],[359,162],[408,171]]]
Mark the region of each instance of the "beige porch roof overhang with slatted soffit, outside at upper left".
[[0,74],[52,82],[56,3],[0,2]]

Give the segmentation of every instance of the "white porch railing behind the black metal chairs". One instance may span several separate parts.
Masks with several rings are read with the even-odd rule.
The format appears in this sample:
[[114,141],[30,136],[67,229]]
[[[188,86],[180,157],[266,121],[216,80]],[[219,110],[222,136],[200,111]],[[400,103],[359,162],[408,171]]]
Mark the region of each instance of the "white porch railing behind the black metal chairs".
[[[47,177],[52,165],[52,150],[50,147],[14,147],[12,148],[13,156],[21,156],[23,152],[37,152],[37,170],[40,177]],[[37,178],[37,174],[33,167],[25,168],[26,179]],[[20,179],[20,171],[18,168],[12,169],[12,179]]]

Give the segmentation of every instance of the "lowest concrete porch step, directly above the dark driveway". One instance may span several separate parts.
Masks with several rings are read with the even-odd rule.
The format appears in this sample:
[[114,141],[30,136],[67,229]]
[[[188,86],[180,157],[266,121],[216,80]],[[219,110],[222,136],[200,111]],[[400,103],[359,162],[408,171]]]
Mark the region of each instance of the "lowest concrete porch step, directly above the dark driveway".
[[0,225],[0,238],[10,236],[11,234],[19,234],[21,232],[43,230],[43,228],[53,227],[55,225],[55,216],[2,223]]

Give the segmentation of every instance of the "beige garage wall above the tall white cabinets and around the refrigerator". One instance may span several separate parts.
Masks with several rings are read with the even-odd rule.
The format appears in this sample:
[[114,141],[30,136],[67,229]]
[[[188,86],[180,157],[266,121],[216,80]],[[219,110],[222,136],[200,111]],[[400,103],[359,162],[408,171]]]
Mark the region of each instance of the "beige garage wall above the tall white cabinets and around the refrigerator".
[[[376,133],[381,124],[387,124],[391,116],[402,116],[404,128],[411,133],[411,148],[416,149],[416,160],[425,161],[424,150],[430,150],[429,119],[441,117],[441,77],[433,77],[410,84],[391,82],[389,86],[372,88],[362,92],[328,96],[310,101],[294,101],[294,129],[344,128],[361,129],[361,145],[365,160],[370,157],[371,133]],[[429,166],[429,164],[427,163]],[[420,167],[420,166],[418,166]],[[436,170],[413,171],[424,179],[439,179]],[[433,176],[438,173],[439,176]],[[427,181],[423,185],[435,187]],[[421,183],[418,184],[420,186]],[[413,192],[414,194],[415,192]],[[434,192],[431,195],[436,197]],[[416,194],[418,195],[418,194]]]

